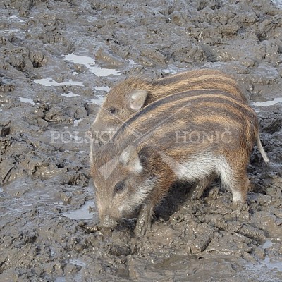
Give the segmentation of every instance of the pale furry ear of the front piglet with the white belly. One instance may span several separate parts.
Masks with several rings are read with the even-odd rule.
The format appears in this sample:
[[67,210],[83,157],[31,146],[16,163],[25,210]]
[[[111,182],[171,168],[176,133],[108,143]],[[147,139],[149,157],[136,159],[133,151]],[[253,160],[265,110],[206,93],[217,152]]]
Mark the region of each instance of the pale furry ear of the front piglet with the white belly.
[[133,171],[134,173],[142,172],[142,164],[138,156],[137,150],[133,145],[129,145],[123,150],[121,156],[119,157],[119,162],[126,166],[128,170]]

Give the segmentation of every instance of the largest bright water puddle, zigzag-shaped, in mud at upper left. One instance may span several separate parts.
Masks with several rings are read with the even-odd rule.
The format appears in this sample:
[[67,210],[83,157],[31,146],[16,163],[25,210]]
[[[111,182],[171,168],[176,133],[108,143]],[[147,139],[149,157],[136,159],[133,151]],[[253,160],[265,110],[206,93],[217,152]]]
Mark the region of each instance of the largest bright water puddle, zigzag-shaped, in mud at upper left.
[[63,55],[65,61],[71,61],[85,66],[90,70],[91,73],[97,76],[109,76],[109,75],[120,75],[121,73],[116,71],[114,68],[99,68],[95,66],[95,60],[88,56],[78,56],[75,54]]

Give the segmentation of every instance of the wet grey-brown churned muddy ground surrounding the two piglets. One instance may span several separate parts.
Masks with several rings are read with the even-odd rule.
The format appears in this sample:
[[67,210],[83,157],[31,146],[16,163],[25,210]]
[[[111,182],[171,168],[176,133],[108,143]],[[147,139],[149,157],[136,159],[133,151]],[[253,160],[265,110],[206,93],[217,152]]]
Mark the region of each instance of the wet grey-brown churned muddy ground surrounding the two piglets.
[[[282,281],[281,61],[269,0],[2,0],[0,281]],[[255,148],[249,207],[178,185],[144,238],[134,219],[94,232],[85,132],[102,97],[193,68],[234,75],[258,113],[271,165]]]

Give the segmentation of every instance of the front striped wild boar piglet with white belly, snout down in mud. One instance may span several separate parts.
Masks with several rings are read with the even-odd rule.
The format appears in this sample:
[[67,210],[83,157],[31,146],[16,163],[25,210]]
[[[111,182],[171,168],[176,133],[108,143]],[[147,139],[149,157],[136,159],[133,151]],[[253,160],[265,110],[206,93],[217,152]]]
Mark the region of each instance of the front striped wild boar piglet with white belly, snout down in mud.
[[[186,140],[177,140],[185,132]],[[257,136],[255,111],[228,92],[190,90],[149,104],[128,118],[111,142],[102,147],[92,142],[91,173],[102,226],[112,227],[139,209],[135,231],[144,234],[155,205],[178,180],[200,180],[206,187],[216,175],[234,202],[245,202],[246,166]]]

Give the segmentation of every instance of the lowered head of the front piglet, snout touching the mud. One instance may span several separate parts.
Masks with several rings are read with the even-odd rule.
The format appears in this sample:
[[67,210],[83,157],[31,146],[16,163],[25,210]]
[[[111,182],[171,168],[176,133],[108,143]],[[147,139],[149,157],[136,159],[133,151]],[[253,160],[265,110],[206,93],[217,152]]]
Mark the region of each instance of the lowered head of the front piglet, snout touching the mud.
[[153,188],[145,154],[129,145],[119,154],[113,144],[92,148],[92,178],[102,227],[111,228],[130,216]]

